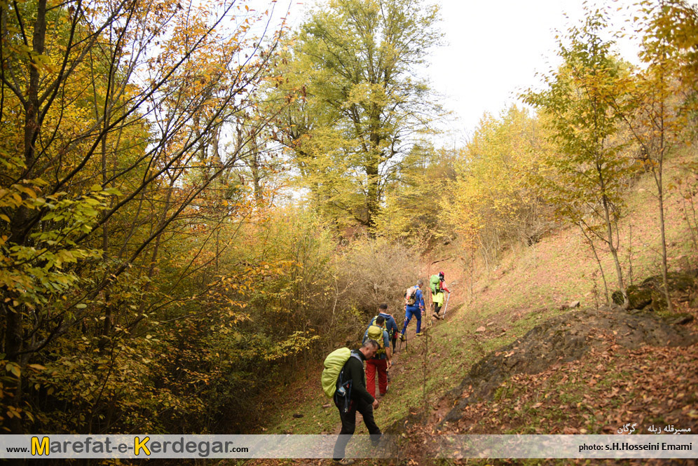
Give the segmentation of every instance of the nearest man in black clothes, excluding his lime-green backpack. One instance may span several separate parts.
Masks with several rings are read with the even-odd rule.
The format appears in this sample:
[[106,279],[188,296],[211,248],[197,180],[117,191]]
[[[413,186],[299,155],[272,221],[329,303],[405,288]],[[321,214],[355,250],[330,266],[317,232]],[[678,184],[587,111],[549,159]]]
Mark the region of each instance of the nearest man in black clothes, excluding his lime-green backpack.
[[378,400],[366,390],[363,364],[363,361],[374,357],[377,350],[378,342],[368,339],[361,348],[352,351],[352,357],[342,368],[341,380],[351,378],[352,384],[349,409],[346,413],[343,411],[343,406],[338,403],[338,397],[334,398],[334,404],[339,410],[339,418],[342,421],[342,429],[336,444],[334,444],[334,460],[340,465],[351,465],[354,462],[354,460],[344,458],[344,451],[356,429],[356,411],[359,411],[364,418],[364,424],[371,434],[371,442],[375,445],[381,439],[381,429],[374,421],[374,409],[378,408]]

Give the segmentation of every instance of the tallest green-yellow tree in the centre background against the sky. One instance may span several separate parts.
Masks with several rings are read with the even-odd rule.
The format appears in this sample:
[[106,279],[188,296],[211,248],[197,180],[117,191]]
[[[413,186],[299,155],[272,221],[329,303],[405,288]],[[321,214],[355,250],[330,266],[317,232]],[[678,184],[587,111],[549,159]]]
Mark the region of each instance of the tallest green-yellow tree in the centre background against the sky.
[[285,71],[294,105],[280,139],[303,186],[340,223],[376,226],[396,177],[436,106],[418,76],[439,43],[437,7],[418,0],[332,0],[294,37]]

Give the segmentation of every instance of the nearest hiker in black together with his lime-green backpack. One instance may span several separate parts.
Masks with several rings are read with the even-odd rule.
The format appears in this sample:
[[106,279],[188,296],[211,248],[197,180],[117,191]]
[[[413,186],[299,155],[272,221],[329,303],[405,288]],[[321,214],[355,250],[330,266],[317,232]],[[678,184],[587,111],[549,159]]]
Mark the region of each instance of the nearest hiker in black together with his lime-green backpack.
[[354,462],[344,458],[344,453],[356,429],[356,411],[364,418],[364,424],[371,434],[371,442],[376,445],[381,440],[381,429],[374,420],[378,400],[366,390],[364,378],[364,361],[374,357],[377,350],[378,342],[369,339],[358,350],[339,348],[324,359],[322,390],[334,399],[342,421],[339,437],[334,444],[334,460],[340,465],[351,465]]

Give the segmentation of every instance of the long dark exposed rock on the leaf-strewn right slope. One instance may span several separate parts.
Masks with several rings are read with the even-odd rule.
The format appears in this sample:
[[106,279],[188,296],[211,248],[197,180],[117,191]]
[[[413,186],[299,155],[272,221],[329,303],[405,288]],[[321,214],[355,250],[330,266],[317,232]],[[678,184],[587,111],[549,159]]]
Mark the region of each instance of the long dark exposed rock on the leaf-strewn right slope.
[[[613,336],[615,343],[630,349],[645,344],[687,346],[698,343],[697,335],[684,327],[672,325],[672,322],[654,313],[627,313],[618,306],[598,311],[582,309],[552,317],[474,364],[460,386],[452,390],[449,396],[460,399],[463,391],[469,387],[472,387],[472,393],[460,399],[442,423],[460,418],[467,404],[492,397],[501,383],[512,374],[538,374],[552,364],[580,359],[591,348],[607,344],[606,336]],[[484,327],[480,328],[484,330]]]

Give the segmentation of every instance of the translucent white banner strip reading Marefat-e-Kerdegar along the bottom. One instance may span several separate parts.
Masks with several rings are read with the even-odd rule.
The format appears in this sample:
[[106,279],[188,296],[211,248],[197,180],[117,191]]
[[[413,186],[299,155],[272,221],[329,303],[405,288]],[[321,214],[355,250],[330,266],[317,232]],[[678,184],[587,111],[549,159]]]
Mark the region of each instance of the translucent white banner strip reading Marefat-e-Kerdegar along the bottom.
[[[0,458],[396,458],[383,435],[4,435]],[[428,458],[698,458],[698,435],[434,435]],[[402,439],[401,441],[410,441]]]

